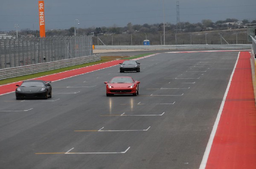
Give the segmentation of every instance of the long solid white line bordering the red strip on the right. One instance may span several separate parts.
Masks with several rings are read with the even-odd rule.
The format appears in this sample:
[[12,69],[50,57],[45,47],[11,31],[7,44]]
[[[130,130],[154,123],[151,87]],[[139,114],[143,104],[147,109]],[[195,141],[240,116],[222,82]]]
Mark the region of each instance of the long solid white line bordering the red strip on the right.
[[226,98],[227,98],[227,93],[228,93],[228,90],[229,90],[229,88],[230,88],[230,84],[231,84],[231,81],[232,81],[234,72],[235,72],[235,70],[236,70],[236,65],[237,65],[237,62],[238,62],[238,59],[239,59],[239,55],[240,55],[240,52],[239,52],[239,54],[238,54],[238,56],[237,56],[236,64],[235,64],[235,66],[234,66],[234,68],[233,68],[233,71],[232,71],[232,74],[231,74],[231,76],[230,76],[230,80],[229,80],[229,82],[228,82],[226,92],[225,92],[224,97],[223,97],[223,99],[222,99],[221,107],[220,107],[220,109],[219,109],[219,111],[218,111],[218,115],[217,115],[216,120],[215,120],[215,123],[214,123],[214,125],[213,125],[212,132],[211,132],[209,141],[208,141],[208,143],[207,143],[207,146],[206,146],[206,149],[205,149],[205,152],[204,152],[204,156],[203,156],[203,159],[202,159],[202,161],[201,161],[201,164],[200,164],[199,169],[205,169],[205,167],[206,167],[207,160],[208,160],[208,157],[209,157],[209,153],[210,153],[210,150],[211,150],[211,148],[212,148],[212,142],[213,142],[213,139],[214,139],[214,137],[215,137],[215,133],[216,133],[217,128],[218,128],[218,123],[219,123],[220,118],[221,118],[221,113],[222,113],[222,110],[223,110],[223,108],[224,108],[225,100],[226,100]]

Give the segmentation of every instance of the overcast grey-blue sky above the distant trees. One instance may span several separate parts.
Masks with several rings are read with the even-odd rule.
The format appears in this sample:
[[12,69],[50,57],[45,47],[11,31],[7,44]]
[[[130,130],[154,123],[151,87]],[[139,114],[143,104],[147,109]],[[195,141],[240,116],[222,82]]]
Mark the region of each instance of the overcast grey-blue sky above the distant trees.
[[[180,22],[256,20],[256,0],[179,0]],[[44,0],[45,28],[124,27],[128,23],[176,24],[176,0]],[[164,7],[163,7],[164,4]],[[164,9],[164,10],[163,10]],[[163,15],[164,11],[164,15]],[[0,31],[39,29],[38,0],[0,0]]]

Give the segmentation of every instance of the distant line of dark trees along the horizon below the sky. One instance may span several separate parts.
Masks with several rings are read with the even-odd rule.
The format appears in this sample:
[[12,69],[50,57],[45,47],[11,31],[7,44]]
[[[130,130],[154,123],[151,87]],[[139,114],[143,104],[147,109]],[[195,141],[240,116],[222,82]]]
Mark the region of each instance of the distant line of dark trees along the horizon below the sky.
[[[201,23],[189,23],[180,22],[178,24],[165,23],[166,34],[174,33],[189,33],[189,32],[201,32],[201,31],[212,31],[212,30],[227,30],[227,29],[239,29],[246,28],[246,24],[256,24],[256,20],[242,20],[239,22],[237,19],[227,18],[226,20],[218,20],[215,23],[212,20],[202,20]],[[135,24],[128,23],[124,27],[119,27],[114,24],[111,27],[90,27],[90,28],[76,28],[76,35],[78,36],[100,36],[102,34],[161,34],[163,33],[163,23],[156,24]],[[15,36],[15,31],[10,31],[10,35]],[[19,32],[20,36],[34,36],[39,37],[39,31],[32,31],[30,29],[23,29]],[[47,37],[54,36],[74,36],[74,27],[69,29],[53,29],[46,31]]]

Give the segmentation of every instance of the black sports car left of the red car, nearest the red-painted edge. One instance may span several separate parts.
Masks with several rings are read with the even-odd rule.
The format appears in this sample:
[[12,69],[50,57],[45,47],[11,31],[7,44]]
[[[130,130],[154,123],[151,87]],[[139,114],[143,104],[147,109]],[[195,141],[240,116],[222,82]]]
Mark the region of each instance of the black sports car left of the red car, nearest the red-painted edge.
[[52,97],[51,81],[26,80],[16,85],[16,99],[48,99]]

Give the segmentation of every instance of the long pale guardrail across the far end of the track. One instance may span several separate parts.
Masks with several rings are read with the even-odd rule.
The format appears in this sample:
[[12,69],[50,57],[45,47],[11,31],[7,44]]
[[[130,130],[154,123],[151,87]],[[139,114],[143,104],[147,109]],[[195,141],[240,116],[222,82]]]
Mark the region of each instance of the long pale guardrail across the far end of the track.
[[134,50],[168,50],[168,49],[251,49],[252,44],[230,45],[95,45],[95,49],[134,49]]

